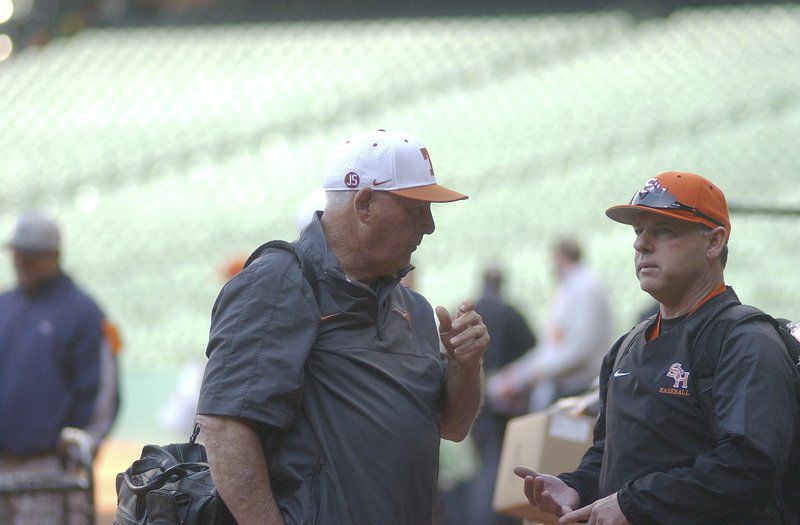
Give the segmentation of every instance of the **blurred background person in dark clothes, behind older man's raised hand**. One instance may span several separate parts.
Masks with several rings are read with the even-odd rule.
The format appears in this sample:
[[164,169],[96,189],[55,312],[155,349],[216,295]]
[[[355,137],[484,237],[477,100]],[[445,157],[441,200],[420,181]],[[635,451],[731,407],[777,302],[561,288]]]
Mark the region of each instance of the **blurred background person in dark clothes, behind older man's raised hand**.
[[[475,311],[483,318],[492,338],[483,357],[485,373],[492,374],[522,357],[536,344],[527,321],[503,296],[505,272],[499,262],[483,269],[482,290]],[[448,525],[514,525],[519,520],[496,514],[492,496],[500,462],[506,424],[524,414],[527,389],[516,395],[486,402],[472,424],[470,437],[478,456],[474,474],[444,493],[444,523]]]

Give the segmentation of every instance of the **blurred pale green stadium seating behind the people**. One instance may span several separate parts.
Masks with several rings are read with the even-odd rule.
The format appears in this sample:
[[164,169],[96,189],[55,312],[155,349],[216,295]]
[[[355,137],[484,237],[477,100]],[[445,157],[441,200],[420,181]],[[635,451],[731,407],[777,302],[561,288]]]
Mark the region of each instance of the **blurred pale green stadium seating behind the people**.
[[677,169],[729,196],[740,297],[800,318],[800,5],[433,9],[0,0],[0,232],[30,208],[63,223],[65,267],[126,342],[117,437],[173,437],[157,412],[204,359],[218,268],[294,238],[327,152],[365,129],[420,136],[470,195],[435,206],[415,255],[434,304],[474,295],[500,258],[538,326],[549,246],[574,232],[622,332],[649,298],[632,232],[603,211]]

